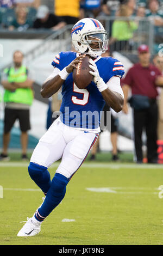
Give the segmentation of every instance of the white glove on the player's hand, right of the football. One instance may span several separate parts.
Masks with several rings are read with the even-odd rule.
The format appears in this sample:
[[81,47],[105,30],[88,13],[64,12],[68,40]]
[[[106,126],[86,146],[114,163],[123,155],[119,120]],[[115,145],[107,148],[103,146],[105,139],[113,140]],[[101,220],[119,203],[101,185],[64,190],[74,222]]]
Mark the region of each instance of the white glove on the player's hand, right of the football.
[[103,78],[101,76],[99,76],[99,72],[98,72],[95,62],[93,62],[93,60],[90,59],[89,63],[91,64],[91,65],[89,65],[89,67],[93,70],[93,71],[89,71],[90,74],[93,76],[93,82],[96,83],[96,86],[97,86],[99,92],[103,92],[103,90],[106,90],[108,88],[108,86],[103,81]]

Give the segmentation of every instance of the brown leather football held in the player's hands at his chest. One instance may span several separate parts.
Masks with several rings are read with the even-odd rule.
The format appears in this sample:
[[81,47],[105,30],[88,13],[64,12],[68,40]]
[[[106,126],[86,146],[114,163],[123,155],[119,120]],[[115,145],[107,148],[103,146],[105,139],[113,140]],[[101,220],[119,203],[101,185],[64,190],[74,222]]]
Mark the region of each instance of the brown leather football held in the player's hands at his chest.
[[89,67],[89,59],[85,56],[82,63],[77,64],[77,69],[73,69],[73,81],[79,89],[86,88],[93,80],[93,76],[89,73],[90,70],[92,71]]

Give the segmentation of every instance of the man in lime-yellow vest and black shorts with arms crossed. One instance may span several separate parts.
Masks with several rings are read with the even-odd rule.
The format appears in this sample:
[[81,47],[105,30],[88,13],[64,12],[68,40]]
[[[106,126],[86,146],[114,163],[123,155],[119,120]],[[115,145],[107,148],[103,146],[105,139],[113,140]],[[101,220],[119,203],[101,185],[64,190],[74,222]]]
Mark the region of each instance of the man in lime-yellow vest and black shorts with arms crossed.
[[8,145],[10,142],[10,130],[16,119],[19,120],[21,129],[22,160],[27,160],[28,133],[30,130],[29,108],[33,102],[33,80],[29,70],[22,65],[23,53],[14,52],[14,65],[4,70],[1,84],[4,93],[4,133],[3,151],[1,160],[9,160]]

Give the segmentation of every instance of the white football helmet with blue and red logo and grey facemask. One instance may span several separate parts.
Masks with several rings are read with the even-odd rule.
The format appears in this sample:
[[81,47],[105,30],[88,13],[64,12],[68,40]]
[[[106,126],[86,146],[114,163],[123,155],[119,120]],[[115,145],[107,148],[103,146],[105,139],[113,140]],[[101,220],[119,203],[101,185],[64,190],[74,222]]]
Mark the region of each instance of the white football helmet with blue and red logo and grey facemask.
[[[101,22],[92,18],[78,21],[72,28],[72,44],[76,51],[97,58],[108,49],[108,33]],[[91,47],[90,45],[95,47]]]

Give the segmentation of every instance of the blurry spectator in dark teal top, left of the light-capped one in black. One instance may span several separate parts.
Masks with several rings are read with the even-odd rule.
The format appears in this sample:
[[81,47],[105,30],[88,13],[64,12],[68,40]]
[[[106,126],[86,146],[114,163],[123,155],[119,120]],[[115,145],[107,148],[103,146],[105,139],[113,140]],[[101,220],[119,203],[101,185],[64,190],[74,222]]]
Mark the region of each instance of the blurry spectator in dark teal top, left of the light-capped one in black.
[[8,27],[9,31],[26,31],[29,28],[32,28],[33,22],[27,19],[28,10],[26,7],[16,7],[16,19],[14,19],[10,26]]

